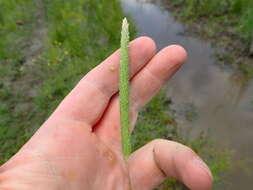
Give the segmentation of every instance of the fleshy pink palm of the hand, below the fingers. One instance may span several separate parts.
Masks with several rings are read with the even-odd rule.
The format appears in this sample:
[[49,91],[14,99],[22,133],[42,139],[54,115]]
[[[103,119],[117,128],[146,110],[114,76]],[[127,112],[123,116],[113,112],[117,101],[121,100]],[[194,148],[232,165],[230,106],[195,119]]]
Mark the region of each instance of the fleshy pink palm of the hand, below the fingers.
[[[121,154],[112,151],[87,126],[66,120],[45,125],[3,167],[6,172],[2,178],[10,179],[6,188],[30,189],[33,184],[35,189],[128,189],[128,172]],[[41,143],[40,136],[47,130],[50,134]],[[12,186],[16,183],[18,188]]]

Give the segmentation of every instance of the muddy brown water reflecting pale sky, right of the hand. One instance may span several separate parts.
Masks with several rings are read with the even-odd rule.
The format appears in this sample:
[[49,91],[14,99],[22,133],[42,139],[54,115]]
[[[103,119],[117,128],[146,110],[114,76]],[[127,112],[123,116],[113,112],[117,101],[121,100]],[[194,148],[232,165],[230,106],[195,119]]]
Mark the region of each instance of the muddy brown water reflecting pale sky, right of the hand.
[[180,44],[188,62],[168,83],[176,120],[187,138],[204,131],[213,141],[234,151],[232,170],[219,189],[253,189],[253,80],[230,66],[221,66],[215,54],[222,49],[187,34],[162,1],[121,0],[136,24],[138,36],[153,38],[161,49]]

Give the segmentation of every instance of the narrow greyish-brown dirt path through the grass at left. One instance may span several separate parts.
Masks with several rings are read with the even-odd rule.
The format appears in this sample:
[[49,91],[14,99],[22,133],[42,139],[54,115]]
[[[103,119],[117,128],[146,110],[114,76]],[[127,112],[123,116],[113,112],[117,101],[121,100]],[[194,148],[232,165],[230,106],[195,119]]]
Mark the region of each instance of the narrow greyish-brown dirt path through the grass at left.
[[15,112],[28,112],[34,109],[33,98],[38,94],[41,85],[40,66],[35,63],[43,52],[47,38],[45,7],[43,0],[36,1],[35,22],[32,24],[32,35],[22,44],[24,62],[21,75],[12,82],[13,93],[21,97],[15,105]]

